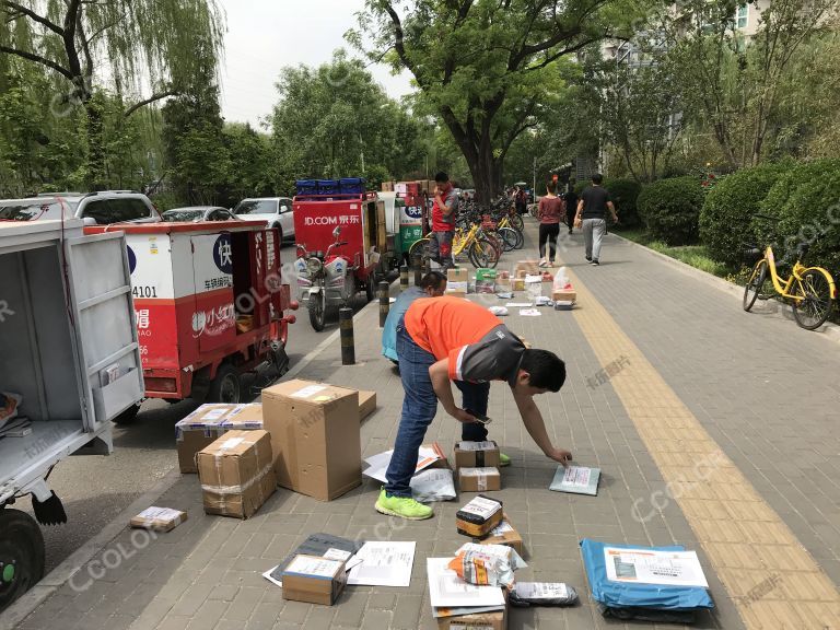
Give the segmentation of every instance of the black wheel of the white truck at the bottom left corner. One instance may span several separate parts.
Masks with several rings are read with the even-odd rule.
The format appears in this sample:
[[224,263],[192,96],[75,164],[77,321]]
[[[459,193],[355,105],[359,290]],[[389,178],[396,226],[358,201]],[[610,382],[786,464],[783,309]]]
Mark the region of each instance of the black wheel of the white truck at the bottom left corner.
[[0,509],[0,610],[44,576],[44,536],[20,510]]

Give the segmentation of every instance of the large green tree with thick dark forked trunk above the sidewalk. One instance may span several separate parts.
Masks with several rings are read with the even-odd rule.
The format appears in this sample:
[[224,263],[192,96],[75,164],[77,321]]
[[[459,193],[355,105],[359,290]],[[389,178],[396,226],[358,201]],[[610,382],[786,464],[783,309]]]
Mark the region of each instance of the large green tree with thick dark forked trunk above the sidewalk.
[[[548,98],[552,65],[632,12],[610,15],[615,4],[368,0],[360,26],[374,34],[372,58],[413,74],[421,97],[464,154],[478,199],[487,201],[502,187],[511,145],[534,126]],[[361,33],[351,39],[362,45]]]

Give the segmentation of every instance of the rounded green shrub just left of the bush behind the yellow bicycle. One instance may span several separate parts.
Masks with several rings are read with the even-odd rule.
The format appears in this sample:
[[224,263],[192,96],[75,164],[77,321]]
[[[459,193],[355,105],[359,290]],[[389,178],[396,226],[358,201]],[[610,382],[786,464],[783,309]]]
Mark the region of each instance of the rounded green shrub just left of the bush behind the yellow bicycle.
[[759,241],[750,225],[752,215],[792,167],[792,162],[762,164],[716,179],[700,211],[700,241],[712,258],[732,267],[743,262],[742,245]]

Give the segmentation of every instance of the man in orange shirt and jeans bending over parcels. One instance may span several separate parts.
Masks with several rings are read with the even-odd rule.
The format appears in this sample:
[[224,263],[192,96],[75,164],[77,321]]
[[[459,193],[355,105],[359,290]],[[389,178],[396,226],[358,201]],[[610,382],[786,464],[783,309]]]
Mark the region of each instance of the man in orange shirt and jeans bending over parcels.
[[[525,429],[547,457],[563,466],[572,458],[553,446],[534,402],[537,394],[560,390],[565,364],[547,350],[526,349],[482,306],[460,298],[417,300],[397,325],[397,355],[406,396],[377,512],[412,521],[432,516],[431,508],[411,498],[409,482],[438,401],[463,422],[462,440],[485,441],[487,428],[477,418],[487,416],[490,381],[511,387]],[[455,405],[453,381],[464,396],[463,408]]]

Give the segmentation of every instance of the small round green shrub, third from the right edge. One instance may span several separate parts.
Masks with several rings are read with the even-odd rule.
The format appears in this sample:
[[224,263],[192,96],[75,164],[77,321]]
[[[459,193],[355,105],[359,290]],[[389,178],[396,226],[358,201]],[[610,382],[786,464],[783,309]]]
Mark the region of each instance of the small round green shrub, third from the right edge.
[[697,241],[703,189],[697,177],[674,177],[649,184],[637,200],[648,232],[668,245]]

